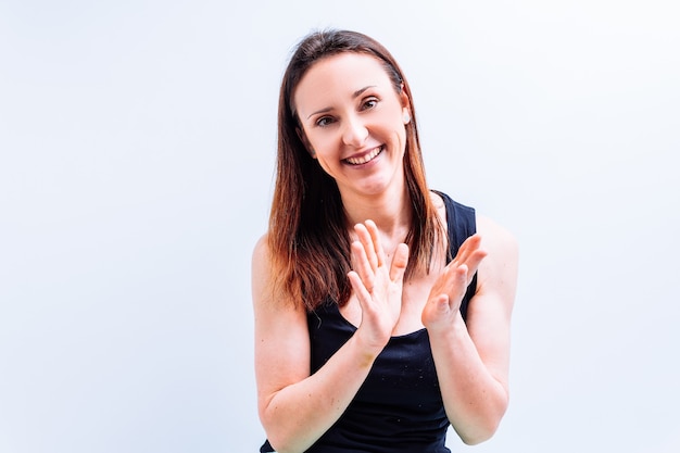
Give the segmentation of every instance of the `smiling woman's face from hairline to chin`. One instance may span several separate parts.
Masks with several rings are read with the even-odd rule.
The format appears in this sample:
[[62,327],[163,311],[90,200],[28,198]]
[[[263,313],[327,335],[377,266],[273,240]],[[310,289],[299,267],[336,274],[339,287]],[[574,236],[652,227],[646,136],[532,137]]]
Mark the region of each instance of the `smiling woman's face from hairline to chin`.
[[307,150],[343,194],[379,194],[403,184],[408,99],[379,60],[344,52],[315,63],[293,102]]

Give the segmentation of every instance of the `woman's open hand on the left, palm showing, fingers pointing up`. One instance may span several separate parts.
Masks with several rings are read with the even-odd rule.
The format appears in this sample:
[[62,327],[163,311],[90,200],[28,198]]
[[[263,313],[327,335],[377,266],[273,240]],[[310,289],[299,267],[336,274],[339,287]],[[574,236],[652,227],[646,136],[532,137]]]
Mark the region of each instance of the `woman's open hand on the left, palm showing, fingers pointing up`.
[[390,264],[373,221],[354,226],[357,240],[352,242],[350,284],[362,309],[362,322],[355,335],[377,355],[387,344],[399,320],[408,246],[400,243]]

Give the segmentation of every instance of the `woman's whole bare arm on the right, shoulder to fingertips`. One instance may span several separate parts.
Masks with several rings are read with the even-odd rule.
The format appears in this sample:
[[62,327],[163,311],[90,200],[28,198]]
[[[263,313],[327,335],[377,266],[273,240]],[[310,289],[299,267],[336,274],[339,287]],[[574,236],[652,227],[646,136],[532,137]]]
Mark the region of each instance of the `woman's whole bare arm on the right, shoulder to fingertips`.
[[[435,284],[423,314],[446,415],[468,444],[493,436],[507,408],[509,326],[517,280],[515,239],[483,217],[478,218],[478,230]],[[459,304],[477,269],[477,292],[466,325]]]

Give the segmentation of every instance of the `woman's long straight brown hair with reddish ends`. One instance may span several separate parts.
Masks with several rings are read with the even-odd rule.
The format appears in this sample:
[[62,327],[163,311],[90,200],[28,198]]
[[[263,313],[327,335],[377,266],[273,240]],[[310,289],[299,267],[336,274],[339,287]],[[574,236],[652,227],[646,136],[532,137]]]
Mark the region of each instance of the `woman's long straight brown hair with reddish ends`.
[[341,52],[377,58],[394,90],[398,93],[403,90],[411,103],[411,122],[405,126],[404,176],[413,219],[406,237],[411,256],[405,278],[416,269],[429,272],[435,244],[442,239],[441,222],[425,180],[411,88],[396,61],[382,45],[356,32],[331,29],[307,35],[297,46],[282,77],[276,185],[268,230],[273,275],[279,279],[278,288],[307,310],[314,310],[327,299],[340,305],[349,300],[350,236],[335,179],[312,159],[297,133],[301,126],[292,96],[314,63]]

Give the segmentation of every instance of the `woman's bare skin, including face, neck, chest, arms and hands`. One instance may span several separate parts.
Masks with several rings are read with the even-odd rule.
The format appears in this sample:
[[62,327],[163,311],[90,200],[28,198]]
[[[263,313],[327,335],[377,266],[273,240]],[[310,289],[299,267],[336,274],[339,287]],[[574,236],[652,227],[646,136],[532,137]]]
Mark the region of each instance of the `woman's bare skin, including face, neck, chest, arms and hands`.
[[[403,240],[411,212],[402,162],[410,100],[394,89],[376,59],[341,53],[308,70],[294,103],[299,134],[338,183],[354,225],[353,270],[348,275],[353,292],[341,313],[357,329],[311,375],[304,309],[281,300],[266,236],[257,242],[252,261],[255,373],[269,442],[280,453],[306,450],[342,415],[390,337],[421,328],[428,329],[454,429],[470,444],[490,438],[508,403],[514,238],[478,216],[478,234],[464,242],[454,261],[445,265],[445,244],[436,244],[430,273],[404,281],[408,249]],[[443,201],[432,198],[445,225]],[[466,325],[458,309],[477,270]]]

